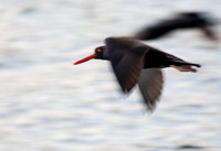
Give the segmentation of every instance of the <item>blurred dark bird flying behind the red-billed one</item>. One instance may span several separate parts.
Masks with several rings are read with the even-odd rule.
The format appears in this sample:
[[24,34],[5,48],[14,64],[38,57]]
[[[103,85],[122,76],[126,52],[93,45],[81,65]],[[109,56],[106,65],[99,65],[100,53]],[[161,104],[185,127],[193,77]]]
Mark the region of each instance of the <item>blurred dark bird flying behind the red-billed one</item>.
[[138,40],[154,40],[175,30],[199,29],[208,39],[215,41],[218,37],[212,30],[213,24],[211,19],[202,12],[182,12],[178,13],[173,19],[162,20],[141,29],[135,34],[135,37]]

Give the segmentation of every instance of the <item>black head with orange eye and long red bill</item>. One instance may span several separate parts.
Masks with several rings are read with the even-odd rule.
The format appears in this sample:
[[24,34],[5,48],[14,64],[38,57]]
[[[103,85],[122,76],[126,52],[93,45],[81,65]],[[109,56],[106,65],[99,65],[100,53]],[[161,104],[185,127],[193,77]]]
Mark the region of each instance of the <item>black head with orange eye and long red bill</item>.
[[92,58],[97,58],[97,60],[107,60],[107,48],[106,46],[98,46],[95,48],[94,54],[86,56],[77,62],[74,63],[74,65],[87,62]]

